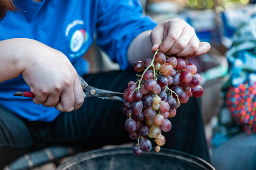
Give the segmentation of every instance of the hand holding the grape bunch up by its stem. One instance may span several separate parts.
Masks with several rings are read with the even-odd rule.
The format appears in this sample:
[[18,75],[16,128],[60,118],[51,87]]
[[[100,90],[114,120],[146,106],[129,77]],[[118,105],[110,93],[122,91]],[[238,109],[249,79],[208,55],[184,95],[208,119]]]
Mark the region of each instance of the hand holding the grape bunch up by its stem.
[[151,32],[152,51],[158,48],[167,55],[198,56],[210,50],[208,42],[200,42],[194,28],[181,19],[169,19]]

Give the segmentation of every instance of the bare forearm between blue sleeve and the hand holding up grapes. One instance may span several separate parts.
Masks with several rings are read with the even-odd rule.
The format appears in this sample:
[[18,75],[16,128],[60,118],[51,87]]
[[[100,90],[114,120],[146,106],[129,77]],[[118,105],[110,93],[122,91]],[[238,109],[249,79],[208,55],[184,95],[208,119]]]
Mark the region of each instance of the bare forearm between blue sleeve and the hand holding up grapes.
[[128,61],[131,65],[135,61],[144,61],[146,58],[152,58],[154,53],[151,51],[152,42],[150,40],[151,30],[144,31],[135,37],[128,49]]

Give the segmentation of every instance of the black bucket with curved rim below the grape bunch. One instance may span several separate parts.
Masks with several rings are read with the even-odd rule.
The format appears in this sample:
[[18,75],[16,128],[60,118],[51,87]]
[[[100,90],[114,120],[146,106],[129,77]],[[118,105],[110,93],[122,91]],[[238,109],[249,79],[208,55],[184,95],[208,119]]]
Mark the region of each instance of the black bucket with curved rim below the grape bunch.
[[79,154],[62,163],[57,170],[215,170],[194,155],[161,148],[136,157],[130,147],[99,149]]

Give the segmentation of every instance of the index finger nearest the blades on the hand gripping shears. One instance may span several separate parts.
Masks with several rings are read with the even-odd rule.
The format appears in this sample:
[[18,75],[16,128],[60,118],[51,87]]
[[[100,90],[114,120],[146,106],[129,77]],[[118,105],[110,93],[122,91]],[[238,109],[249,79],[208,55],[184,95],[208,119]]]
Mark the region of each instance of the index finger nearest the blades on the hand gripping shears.
[[82,103],[84,101],[82,85],[78,77],[75,79],[75,82],[74,82],[74,98],[75,98],[74,110],[77,110],[82,106]]

